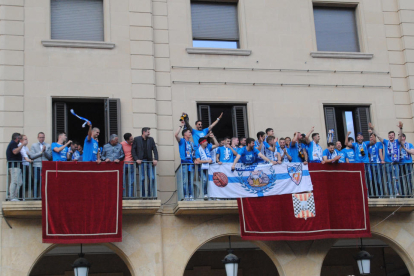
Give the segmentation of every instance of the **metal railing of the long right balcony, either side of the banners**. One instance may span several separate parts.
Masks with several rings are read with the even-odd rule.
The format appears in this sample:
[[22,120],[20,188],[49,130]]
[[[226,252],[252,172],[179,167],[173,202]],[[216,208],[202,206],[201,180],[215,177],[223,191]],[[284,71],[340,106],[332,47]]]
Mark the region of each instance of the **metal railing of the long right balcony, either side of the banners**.
[[[210,199],[200,166],[181,164],[176,170],[178,201]],[[365,164],[365,180],[369,198],[413,197],[413,164]]]

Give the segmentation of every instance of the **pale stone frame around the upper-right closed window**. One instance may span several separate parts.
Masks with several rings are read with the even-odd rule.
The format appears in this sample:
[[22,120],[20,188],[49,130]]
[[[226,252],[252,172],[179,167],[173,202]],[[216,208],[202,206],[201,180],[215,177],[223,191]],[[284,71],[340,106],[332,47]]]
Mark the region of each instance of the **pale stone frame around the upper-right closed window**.
[[[339,8],[355,8],[355,23],[357,27],[357,37],[358,37],[358,44],[359,44],[359,52],[338,52],[338,51],[318,51],[317,45],[317,37],[316,37],[316,26],[315,26],[315,17],[314,17],[314,6],[319,7],[339,7]],[[358,58],[355,54],[364,54],[367,53],[367,38],[365,35],[365,22],[364,14],[363,14],[363,3],[360,0],[335,0],[335,1],[326,1],[326,0],[313,0],[310,2],[310,20],[311,20],[311,28],[312,28],[312,45],[313,51],[312,53],[344,53],[345,55],[348,54],[349,57],[347,58]],[[319,57],[319,56],[315,56]],[[346,58],[346,57],[344,57]],[[360,57],[362,58],[362,57]],[[372,55],[366,58],[372,58]]]

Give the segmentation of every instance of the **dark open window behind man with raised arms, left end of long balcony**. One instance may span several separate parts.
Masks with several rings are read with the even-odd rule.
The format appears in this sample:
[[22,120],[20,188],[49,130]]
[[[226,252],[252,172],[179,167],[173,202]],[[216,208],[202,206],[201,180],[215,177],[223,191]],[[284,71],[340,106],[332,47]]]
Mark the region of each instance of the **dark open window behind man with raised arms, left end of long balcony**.
[[[247,111],[245,105],[231,104],[199,104],[198,119],[206,128],[213,123],[223,112],[223,118],[213,128],[217,138],[249,137],[247,127]],[[190,123],[193,123],[190,121]]]

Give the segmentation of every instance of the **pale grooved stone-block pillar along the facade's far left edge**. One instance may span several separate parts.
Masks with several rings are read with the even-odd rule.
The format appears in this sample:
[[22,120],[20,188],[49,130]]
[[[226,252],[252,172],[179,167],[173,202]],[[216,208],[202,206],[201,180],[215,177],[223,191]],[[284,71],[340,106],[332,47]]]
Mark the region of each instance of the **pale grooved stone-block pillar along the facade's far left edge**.
[[0,1],[1,200],[6,197],[5,152],[13,132],[23,132],[24,0]]

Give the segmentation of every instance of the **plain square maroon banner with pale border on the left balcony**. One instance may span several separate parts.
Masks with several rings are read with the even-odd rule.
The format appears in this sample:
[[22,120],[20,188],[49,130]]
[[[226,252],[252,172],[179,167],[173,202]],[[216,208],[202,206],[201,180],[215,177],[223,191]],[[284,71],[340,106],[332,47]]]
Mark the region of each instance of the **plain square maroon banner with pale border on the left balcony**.
[[123,163],[43,162],[43,242],[121,242],[122,169]]

